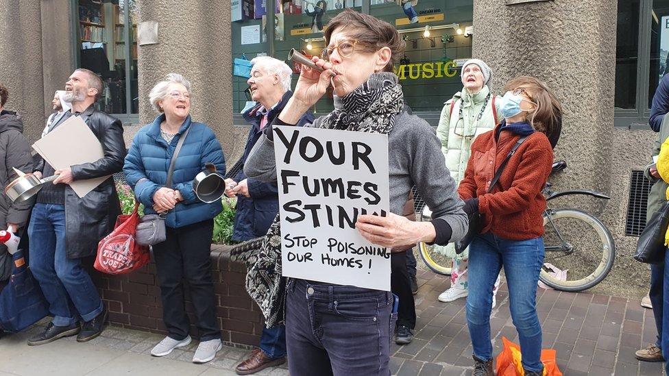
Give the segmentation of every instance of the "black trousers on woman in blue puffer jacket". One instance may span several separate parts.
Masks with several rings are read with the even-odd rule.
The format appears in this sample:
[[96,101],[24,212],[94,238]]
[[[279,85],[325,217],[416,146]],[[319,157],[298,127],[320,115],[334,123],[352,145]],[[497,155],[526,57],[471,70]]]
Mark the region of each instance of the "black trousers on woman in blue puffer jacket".
[[186,338],[191,329],[184,280],[191,292],[200,340],[221,338],[210,268],[213,231],[212,219],[179,228],[167,227],[167,240],[153,247],[160,280],[162,321],[167,335],[175,340]]

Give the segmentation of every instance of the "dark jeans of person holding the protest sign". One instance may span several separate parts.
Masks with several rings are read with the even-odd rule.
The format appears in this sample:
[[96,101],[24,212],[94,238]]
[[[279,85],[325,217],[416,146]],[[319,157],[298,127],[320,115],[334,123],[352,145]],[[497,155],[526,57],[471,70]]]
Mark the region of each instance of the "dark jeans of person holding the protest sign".
[[387,291],[292,279],[286,300],[291,376],[390,375],[392,310]]

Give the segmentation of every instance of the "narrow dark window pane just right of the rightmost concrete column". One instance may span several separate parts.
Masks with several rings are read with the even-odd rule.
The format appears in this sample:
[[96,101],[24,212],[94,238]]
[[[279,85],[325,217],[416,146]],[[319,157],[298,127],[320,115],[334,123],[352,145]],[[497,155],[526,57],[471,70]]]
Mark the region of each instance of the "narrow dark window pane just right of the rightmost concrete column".
[[618,0],[616,108],[636,108],[639,0]]

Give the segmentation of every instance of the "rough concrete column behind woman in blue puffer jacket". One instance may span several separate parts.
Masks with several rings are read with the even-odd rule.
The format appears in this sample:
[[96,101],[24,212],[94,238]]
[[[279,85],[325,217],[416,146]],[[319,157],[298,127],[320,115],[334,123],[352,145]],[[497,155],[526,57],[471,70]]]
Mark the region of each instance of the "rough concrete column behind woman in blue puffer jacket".
[[[233,147],[230,3],[210,0],[138,1],[139,20],[158,22],[157,45],[138,46],[141,123],[156,117],[149,91],[167,73],[191,81],[193,120],[214,129],[226,157]],[[228,159],[232,165],[234,160]]]

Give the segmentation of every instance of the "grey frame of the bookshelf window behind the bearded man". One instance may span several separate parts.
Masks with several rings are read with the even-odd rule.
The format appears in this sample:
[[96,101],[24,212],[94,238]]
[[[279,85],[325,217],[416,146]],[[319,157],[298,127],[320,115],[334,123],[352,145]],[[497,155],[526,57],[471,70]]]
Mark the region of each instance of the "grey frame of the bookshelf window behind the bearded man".
[[[273,0],[267,0],[273,1]],[[79,0],[70,0],[70,14],[72,14],[72,40],[74,43],[73,60],[76,68],[81,68],[81,41],[80,41],[80,23],[79,23]],[[125,16],[125,24],[123,27],[123,40],[125,40],[125,113],[110,114],[118,118],[123,124],[138,124],[139,113],[132,113],[132,77],[130,65],[132,64],[132,22],[130,21],[130,7],[127,4],[123,7],[123,15]],[[128,27],[130,26],[130,27]]]

